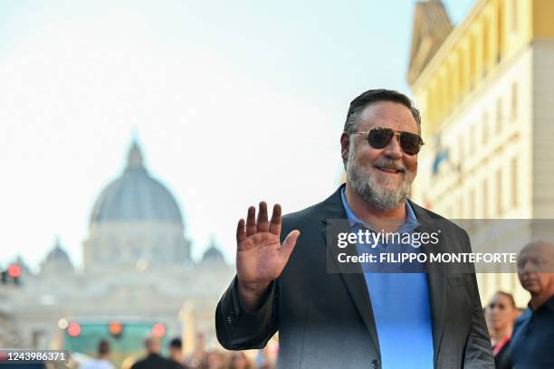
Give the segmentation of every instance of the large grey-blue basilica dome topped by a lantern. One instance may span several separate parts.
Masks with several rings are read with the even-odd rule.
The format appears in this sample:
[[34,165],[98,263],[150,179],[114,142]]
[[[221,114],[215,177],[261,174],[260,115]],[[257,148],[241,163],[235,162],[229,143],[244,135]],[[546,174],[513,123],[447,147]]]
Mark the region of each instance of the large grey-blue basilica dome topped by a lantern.
[[134,142],[125,171],[96,200],[91,224],[137,221],[183,224],[175,198],[148,174],[139,145]]

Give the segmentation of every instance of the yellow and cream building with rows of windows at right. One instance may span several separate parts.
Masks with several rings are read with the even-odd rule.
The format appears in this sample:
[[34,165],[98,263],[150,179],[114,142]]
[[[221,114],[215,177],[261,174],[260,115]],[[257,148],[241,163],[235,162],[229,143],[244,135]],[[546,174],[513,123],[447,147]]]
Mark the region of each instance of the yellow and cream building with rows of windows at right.
[[[435,19],[444,12],[437,3],[416,5],[413,58],[425,24],[444,24],[444,15]],[[551,1],[479,0],[428,61],[410,61],[425,140],[416,203],[451,219],[552,218],[553,16]],[[447,158],[434,170],[441,152]],[[483,273],[478,281],[483,304],[498,289],[527,304],[514,273]]]

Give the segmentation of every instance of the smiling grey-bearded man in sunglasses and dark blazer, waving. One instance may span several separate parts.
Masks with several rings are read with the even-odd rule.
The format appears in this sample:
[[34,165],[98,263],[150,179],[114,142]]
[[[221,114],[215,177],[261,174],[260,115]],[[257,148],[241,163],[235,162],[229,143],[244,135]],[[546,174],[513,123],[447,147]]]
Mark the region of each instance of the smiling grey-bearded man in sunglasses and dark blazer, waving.
[[[407,199],[417,173],[419,111],[394,90],[352,100],[340,135],[347,181],[325,201],[282,217],[248,209],[236,232],[236,277],[215,311],[227,349],[262,348],[279,331],[283,368],[493,368],[474,273],[392,273],[358,261],[338,235],[415,234],[441,223],[435,251],[471,252],[467,233]],[[337,222],[337,220],[339,220]],[[414,243],[374,245],[377,251]],[[343,252],[344,251],[344,252]],[[342,255],[342,256],[341,256]],[[350,259],[357,260],[357,259]],[[413,271],[413,270],[412,270]]]

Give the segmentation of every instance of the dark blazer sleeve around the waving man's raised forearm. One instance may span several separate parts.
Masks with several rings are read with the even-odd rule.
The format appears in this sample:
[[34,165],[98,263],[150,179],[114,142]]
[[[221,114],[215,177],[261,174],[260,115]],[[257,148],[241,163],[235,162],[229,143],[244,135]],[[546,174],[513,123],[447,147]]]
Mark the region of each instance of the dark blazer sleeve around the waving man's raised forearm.
[[274,280],[253,313],[246,312],[238,297],[236,276],[215,308],[217,340],[227,350],[263,348],[279,329],[278,280]]

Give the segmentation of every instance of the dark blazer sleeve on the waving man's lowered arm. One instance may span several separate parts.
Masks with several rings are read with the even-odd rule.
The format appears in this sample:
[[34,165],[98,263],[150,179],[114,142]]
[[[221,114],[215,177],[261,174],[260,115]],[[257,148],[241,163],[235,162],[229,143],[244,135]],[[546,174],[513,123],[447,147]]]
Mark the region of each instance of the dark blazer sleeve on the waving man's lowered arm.
[[[463,231],[466,240],[466,245],[471,251],[471,242],[467,232]],[[472,266],[472,327],[465,347],[465,355],[463,367],[468,369],[473,368],[490,368],[494,369],[494,357],[492,355],[491,338],[489,330],[482,313],[481,297],[477,287],[477,279],[475,278],[475,270]]]

